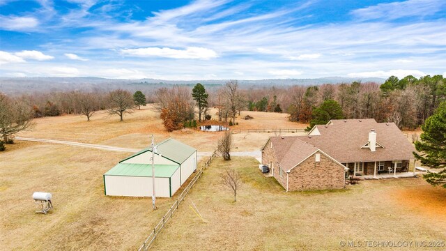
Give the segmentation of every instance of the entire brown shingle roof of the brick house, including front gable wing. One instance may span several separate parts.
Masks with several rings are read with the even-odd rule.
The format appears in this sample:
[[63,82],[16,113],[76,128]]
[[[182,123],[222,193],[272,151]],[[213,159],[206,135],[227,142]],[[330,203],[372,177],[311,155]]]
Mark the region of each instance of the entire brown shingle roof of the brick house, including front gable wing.
[[[339,119],[317,128],[321,135],[270,137],[282,169],[288,171],[318,149],[338,162],[413,159],[415,147],[394,123],[377,123],[374,119]],[[369,142],[372,129],[376,132],[376,142],[383,146],[376,147],[374,152],[361,148]],[[270,146],[266,144],[265,147]]]

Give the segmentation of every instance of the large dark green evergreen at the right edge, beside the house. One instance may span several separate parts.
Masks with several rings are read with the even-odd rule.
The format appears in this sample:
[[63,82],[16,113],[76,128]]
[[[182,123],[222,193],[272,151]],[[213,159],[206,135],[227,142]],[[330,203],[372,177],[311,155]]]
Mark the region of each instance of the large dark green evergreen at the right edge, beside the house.
[[422,165],[431,168],[443,168],[438,174],[425,174],[424,179],[431,185],[443,185],[446,188],[446,101],[442,102],[436,111],[422,126],[421,141],[415,142],[413,153]]

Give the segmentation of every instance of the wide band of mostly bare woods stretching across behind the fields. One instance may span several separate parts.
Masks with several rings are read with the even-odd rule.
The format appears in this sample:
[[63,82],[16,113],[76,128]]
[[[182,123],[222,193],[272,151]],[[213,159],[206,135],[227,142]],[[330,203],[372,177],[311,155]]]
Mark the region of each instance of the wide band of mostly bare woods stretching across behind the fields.
[[[403,79],[389,77],[383,84],[352,82],[318,86],[240,86],[236,80],[224,85],[173,85],[153,93],[123,89],[114,91],[65,91],[6,96],[0,93],[0,134],[2,142],[17,131],[31,128],[40,116],[82,114],[90,121],[99,110],[119,116],[136,107],[155,102],[168,131],[197,126],[215,119],[236,125],[241,110],[287,112],[290,121],[326,123],[330,119],[373,118],[394,122],[400,128],[417,128],[446,100],[442,75]],[[150,100],[146,100],[146,96]],[[210,114],[214,107],[217,112]],[[198,119],[198,121],[197,121]]]

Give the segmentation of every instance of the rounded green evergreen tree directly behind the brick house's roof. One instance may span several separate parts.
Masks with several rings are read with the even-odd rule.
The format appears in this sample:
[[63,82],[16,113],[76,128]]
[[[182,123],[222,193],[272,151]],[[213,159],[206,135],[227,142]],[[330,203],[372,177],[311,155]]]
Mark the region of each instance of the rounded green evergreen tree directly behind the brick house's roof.
[[310,121],[307,131],[316,125],[325,125],[331,119],[342,119],[341,105],[335,100],[325,100],[319,107],[313,109],[313,119]]

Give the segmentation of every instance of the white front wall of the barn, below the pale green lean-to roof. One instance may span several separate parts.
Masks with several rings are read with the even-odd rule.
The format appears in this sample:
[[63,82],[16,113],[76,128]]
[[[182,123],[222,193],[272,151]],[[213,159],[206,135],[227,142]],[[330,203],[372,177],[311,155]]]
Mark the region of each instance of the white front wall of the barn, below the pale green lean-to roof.
[[[155,178],[156,197],[170,197],[169,178]],[[152,177],[105,175],[105,192],[111,196],[151,197]]]

